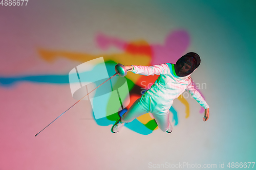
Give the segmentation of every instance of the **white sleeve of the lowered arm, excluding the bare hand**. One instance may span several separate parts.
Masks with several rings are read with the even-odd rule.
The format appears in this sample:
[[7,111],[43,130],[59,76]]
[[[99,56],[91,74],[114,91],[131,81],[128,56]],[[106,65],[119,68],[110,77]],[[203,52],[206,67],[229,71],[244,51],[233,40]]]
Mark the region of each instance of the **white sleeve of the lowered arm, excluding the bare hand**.
[[192,81],[190,81],[190,83],[188,84],[186,90],[191,94],[191,96],[205,109],[208,109],[209,106],[208,104],[205,102],[204,98],[202,97],[202,95],[199,93],[199,91],[197,91],[197,89],[195,88],[194,84]]

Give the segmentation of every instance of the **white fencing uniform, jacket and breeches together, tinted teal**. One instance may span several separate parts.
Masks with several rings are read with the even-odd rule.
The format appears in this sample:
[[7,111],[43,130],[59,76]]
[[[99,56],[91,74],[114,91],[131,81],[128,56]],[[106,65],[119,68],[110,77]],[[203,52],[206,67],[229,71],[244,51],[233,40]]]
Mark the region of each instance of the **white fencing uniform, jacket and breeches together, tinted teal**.
[[187,90],[205,109],[209,108],[201,94],[194,87],[188,76],[178,77],[174,64],[166,63],[153,66],[133,65],[132,72],[144,76],[160,75],[155,83],[138,99],[129,110],[123,114],[122,122],[132,122],[133,119],[151,112],[158,127],[166,131],[169,126],[169,108],[173,100]]

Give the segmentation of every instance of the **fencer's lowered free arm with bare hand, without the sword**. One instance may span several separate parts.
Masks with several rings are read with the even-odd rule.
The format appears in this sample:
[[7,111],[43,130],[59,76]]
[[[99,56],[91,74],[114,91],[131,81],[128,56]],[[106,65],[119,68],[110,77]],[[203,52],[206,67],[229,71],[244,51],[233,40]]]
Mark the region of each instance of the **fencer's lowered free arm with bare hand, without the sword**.
[[197,91],[197,89],[194,87],[194,84],[191,80],[189,85],[187,86],[186,90],[191,94],[191,96],[204,108],[204,117],[203,120],[204,122],[208,120],[209,118],[209,106],[205,102],[204,98],[202,95]]

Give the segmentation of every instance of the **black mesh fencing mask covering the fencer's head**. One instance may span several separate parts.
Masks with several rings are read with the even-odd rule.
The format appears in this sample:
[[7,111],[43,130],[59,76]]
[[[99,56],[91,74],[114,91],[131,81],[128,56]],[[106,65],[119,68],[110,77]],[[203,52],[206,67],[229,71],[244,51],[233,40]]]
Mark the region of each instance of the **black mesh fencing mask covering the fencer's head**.
[[174,68],[175,73],[179,77],[190,75],[199,65],[200,57],[197,53],[190,52],[179,58]]

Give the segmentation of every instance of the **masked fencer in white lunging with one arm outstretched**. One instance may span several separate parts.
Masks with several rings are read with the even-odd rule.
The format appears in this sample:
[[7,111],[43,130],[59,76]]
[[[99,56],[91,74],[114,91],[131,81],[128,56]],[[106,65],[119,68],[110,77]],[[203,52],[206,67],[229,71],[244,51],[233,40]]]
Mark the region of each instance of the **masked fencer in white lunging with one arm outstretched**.
[[[152,113],[156,123],[163,132],[171,133],[173,130],[169,121],[169,108],[173,100],[178,98],[185,90],[205,109],[203,120],[209,118],[209,106],[201,94],[194,87],[190,75],[198,68],[201,59],[198,54],[190,52],[182,56],[176,64],[165,63],[153,66],[125,66],[135,74],[150,76],[159,75],[155,83],[148,89],[121,118],[112,126],[113,133],[118,132],[125,123],[135,118]],[[129,71],[130,71],[129,70]]]

